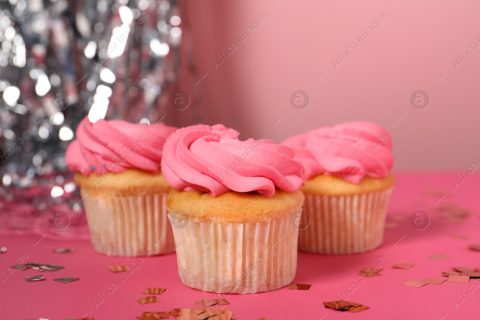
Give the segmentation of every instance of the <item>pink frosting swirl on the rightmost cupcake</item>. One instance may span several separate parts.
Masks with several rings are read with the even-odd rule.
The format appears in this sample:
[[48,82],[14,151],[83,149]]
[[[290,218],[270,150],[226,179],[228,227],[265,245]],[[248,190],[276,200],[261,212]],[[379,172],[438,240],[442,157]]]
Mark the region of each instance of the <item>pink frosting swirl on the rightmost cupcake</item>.
[[389,133],[371,122],[345,122],[288,138],[305,179],[319,174],[339,176],[352,183],[365,177],[386,178],[393,167]]

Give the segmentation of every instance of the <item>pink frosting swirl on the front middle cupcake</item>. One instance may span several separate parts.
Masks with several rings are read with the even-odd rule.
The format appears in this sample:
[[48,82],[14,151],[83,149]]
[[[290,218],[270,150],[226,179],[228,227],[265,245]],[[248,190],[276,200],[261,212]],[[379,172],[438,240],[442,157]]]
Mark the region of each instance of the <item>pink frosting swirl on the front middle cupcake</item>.
[[240,141],[239,134],[221,124],[175,131],[163,147],[165,179],[176,189],[213,197],[230,190],[272,197],[275,187],[295,191],[304,184],[292,149],[263,138]]

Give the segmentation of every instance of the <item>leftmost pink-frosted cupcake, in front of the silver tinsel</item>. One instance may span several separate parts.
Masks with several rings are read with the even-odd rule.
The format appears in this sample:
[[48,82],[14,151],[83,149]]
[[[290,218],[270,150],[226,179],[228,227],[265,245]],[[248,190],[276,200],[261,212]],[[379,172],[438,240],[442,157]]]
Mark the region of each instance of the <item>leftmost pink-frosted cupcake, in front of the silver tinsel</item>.
[[85,117],[65,161],[80,186],[94,249],[134,257],[175,251],[160,169],[162,147],[177,128]]

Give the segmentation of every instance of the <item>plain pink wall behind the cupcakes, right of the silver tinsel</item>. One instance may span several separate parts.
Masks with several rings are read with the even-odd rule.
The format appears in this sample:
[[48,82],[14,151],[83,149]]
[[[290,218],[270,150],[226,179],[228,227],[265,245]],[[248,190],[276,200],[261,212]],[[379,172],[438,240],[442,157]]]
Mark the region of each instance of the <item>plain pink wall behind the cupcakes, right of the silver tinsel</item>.
[[[461,170],[480,156],[480,48],[457,68],[452,62],[480,46],[480,2],[276,1],[188,1],[196,65],[200,78],[207,74],[195,110],[204,123],[281,142],[323,122],[373,121],[393,136],[396,170]],[[235,37],[262,12],[260,30],[240,44]],[[383,12],[388,18],[360,44],[355,36]],[[354,41],[359,47],[335,68],[332,59]],[[215,68],[232,42],[239,47]],[[289,102],[298,89],[311,98],[303,110]],[[409,102],[419,89],[431,98],[423,110]]]

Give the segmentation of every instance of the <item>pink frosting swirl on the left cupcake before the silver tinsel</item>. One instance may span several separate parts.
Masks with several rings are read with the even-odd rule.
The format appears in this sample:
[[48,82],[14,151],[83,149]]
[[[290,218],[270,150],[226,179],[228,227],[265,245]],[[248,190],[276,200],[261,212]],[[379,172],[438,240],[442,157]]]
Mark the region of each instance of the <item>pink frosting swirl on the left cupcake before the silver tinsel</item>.
[[157,173],[163,144],[175,130],[161,122],[152,126],[104,119],[91,123],[85,117],[77,127],[76,139],[67,148],[65,162],[70,170],[84,176],[130,168]]

